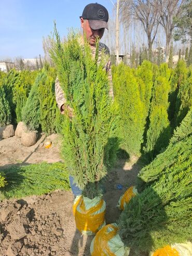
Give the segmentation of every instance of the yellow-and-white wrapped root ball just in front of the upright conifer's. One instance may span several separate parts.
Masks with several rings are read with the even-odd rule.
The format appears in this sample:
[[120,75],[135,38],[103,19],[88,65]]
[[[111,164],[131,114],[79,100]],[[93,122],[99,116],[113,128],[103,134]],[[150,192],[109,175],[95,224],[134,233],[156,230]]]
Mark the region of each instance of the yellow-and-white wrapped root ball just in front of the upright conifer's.
[[130,249],[124,246],[117,232],[116,223],[102,227],[91,242],[91,256],[128,256]]

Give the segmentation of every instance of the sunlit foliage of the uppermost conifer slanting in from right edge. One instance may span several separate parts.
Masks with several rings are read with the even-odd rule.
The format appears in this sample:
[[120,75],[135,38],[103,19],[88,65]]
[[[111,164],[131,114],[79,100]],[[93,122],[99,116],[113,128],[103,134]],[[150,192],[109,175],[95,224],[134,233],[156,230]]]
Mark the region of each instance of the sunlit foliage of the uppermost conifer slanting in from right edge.
[[157,181],[159,177],[174,165],[179,156],[185,159],[190,157],[192,148],[192,110],[188,112],[183,119],[180,127],[174,131],[173,137],[167,150],[159,154],[149,165],[145,166],[139,173],[139,185],[142,187],[143,182],[148,185]]

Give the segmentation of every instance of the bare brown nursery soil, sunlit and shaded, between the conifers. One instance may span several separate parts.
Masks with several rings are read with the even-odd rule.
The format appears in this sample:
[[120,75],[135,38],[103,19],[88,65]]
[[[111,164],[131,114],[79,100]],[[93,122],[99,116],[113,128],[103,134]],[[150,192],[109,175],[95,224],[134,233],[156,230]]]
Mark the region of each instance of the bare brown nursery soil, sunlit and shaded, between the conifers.
[[[50,149],[44,147],[46,140],[52,141]],[[1,140],[0,168],[61,161],[59,145],[57,134],[47,138],[40,134],[37,143],[31,147],[22,146],[16,136]],[[126,163],[121,159],[109,174],[104,194],[107,224],[118,219],[117,201],[126,188],[134,184],[140,169],[141,164]],[[117,184],[123,185],[122,190],[117,189]],[[0,201],[0,255],[90,255],[93,236],[81,236],[76,230],[73,199],[72,192],[55,191],[42,196]],[[131,252],[130,256],[133,255]]]

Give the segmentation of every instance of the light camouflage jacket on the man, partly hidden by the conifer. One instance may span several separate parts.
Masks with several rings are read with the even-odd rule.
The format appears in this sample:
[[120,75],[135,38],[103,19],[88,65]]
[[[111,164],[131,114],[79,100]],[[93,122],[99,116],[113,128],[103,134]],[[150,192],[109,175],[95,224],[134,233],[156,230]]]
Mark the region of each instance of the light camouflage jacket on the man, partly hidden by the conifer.
[[[90,46],[91,47],[91,46]],[[98,64],[101,61],[101,55],[102,55],[102,50],[104,49],[106,55],[109,55],[109,49],[108,47],[103,44],[103,43],[99,43],[99,57],[98,57]],[[92,51],[92,55],[93,57],[95,56],[95,47],[91,47],[91,51]],[[108,80],[109,80],[109,96],[112,97],[112,99],[114,99],[114,95],[113,95],[113,85],[112,85],[112,70],[111,70],[111,61],[108,60],[106,65],[104,66],[104,69],[106,70],[107,74],[108,74]],[[61,88],[60,84],[59,84],[59,79],[58,77],[56,78],[56,84],[55,84],[55,90],[56,90],[56,101],[58,104],[58,107],[60,109],[60,112],[63,113],[62,110],[62,105],[66,103],[66,99],[64,96],[64,91]]]

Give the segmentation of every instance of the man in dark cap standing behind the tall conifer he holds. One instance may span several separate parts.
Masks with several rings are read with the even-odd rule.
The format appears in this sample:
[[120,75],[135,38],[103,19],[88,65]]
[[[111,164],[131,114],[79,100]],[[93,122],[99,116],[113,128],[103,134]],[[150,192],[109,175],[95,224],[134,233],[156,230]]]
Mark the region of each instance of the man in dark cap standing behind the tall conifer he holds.
[[[105,29],[107,29],[107,21],[108,21],[108,11],[107,9],[98,4],[88,4],[83,11],[82,16],[80,16],[80,24],[81,28],[83,29],[83,35],[86,36],[87,42],[89,43],[92,51],[92,56],[95,56],[95,40],[97,37],[100,39],[102,38]],[[81,38],[82,43],[84,41],[84,36]],[[101,54],[104,49],[104,52],[106,55],[109,55],[109,49],[108,47],[99,42],[99,58],[98,63],[101,61]],[[108,80],[109,80],[109,96],[112,98],[113,96],[113,85],[112,85],[112,72],[111,72],[111,62],[108,60],[105,64],[104,69],[106,70],[108,74]],[[70,117],[73,117],[73,109],[71,109],[70,106],[66,105],[66,99],[64,97],[64,92],[59,84],[58,78],[56,79],[55,84],[55,90],[56,90],[56,101],[58,103],[58,107],[60,109],[61,114],[64,113],[65,108],[68,109],[68,115]],[[70,176],[70,184],[72,187],[73,194],[75,196],[81,194],[81,191],[74,183],[73,177]]]

